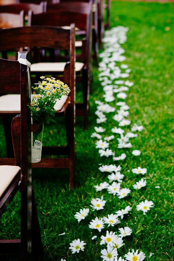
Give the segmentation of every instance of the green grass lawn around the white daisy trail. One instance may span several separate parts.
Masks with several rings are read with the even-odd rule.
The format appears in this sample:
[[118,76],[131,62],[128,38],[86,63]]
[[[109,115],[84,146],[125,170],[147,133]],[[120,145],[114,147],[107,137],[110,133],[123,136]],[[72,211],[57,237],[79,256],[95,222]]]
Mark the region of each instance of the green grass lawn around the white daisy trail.
[[[101,233],[90,230],[89,222],[94,217],[133,205],[132,212],[121,222],[120,226],[109,228],[118,231],[118,227],[129,226],[133,233],[125,238],[125,246],[119,253],[123,257],[129,249],[141,249],[147,256],[145,260],[172,260],[172,86],[173,86],[173,11],[174,4],[143,3],[143,2],[112,2],[111,26],[123,25],[129,27],[127,41],[123,45],[126,50],[126,61],[132,69],[129,80],[134,82],[130,88],[126,104],[130,106],[129,119],[132,124],[142,124],[144,130],[138,138],[132,139],[134,149],[139,149],[139,157],[131,155],[131,149],[126,150],[127,158],[121,162],[122,174],[125,175],[124,187],[131,188],[139,177],[132,175],[132,168],[142,166],[147,168],[147,186],[139,191],[133,191],[123,200],[109,195],[106,191],[96,192],[93,185],[107,181],[107,174],[98,170],[98,164],[111,164],[111,159],[100,158],[95,149],[95,140],[90,138],[97,126],[95,100],[102,100],[102,87],[97,80],[97,70],[93,69],[93,86],[90,96],[90,113],[88,130],[84,131],[83,120],[76,121],[76,187],[68,189],[69,175],[66,170],[33,170],[33,183],[42,241],[44,246],[44,261],[86,260],[100,261]],[[169,27],[165,29],[166,27]],[[166,31],[168,30],[169,31]],[[114,102],[111,103],[114,106]],[[107,114],[108,135],[116,126],[112,121],[113,114]],[[60,122],[62,124],[62,122]],[[62,125],[52,125],[44,129],[44,143],[48,141],[60,144],[64,142],[60,133]],[[53,130],[53,131],[52,131]],[[62,133],[62,132],[61,132]],[[0,127],[2,140],[2,124]],[[120,155],[123,150],[117,149],[116,139],[111,148]],[[0,143],[0,156],[5,155],[5,143]],[[160,189],[155,186],[160,185]],[[76,211],[87,208],[93,197],[104,196],[104,210],[92,212],[78,225],[74,218]],[[154,208],[146,215],[137,212],[138,202],[152,200]],[[0,221],[0,238],[19,237],[19,194],[9,206]],[[65,232],[64,236],[58,234]],[[92,241],[92,235],[97,240]],[[72,240],[80,238],[87,245],[85,251],[72,255],[68,249]],[[155,253],[149,259],[150,252]],[[19,256],[0,256],[0,260],[19,260]]]

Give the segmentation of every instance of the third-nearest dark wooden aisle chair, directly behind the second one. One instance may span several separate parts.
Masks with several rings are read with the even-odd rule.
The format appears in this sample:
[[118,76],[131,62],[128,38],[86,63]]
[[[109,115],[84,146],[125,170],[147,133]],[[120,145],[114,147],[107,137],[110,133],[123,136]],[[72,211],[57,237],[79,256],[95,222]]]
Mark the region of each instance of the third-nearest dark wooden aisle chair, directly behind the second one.
[[[74,11],[48,11],[45,14],[33,15],[28,13],[29,25],[45,25],[45,26],[69,26],[75,23],[80,31],[86,32],[86,38],[83,41],[80,62],[75,63],[75,70],[77,75],[81,75],[80,81],[82,83],[83,103],[76,103],[76,115],[84,117],[84,129],[87,129],[88,111],[89,111],[89,90],[91,83],[91,14],[81,14]],[[76,34],[78,31],[76,31]],[[32,64],[31,72],[33,74],[52,73],[52,68],[48,63],[46,64]],[[54,63],[56,71],[62,72],[64,63]],[[79,78],[77,78],[79,79]]]

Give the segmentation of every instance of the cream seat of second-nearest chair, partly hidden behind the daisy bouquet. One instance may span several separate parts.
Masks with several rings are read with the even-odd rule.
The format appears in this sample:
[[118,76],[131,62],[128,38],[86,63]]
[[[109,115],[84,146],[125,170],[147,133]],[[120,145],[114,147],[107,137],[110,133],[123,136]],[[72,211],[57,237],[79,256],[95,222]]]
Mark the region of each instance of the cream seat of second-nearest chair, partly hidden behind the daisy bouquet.
[[[67,98],[67,95],[63,95],[60,100],[57,100],[54,106],[56,111],[62,109]],[[20,113],[20,110],[20,94],[6,94],[0,96],[0,113],[5,111]]]

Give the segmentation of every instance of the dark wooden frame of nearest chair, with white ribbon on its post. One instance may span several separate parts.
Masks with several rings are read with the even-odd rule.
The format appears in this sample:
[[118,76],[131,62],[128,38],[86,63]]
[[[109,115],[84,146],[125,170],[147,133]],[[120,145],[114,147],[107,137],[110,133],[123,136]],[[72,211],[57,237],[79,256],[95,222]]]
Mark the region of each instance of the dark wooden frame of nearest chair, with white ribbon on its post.
[[[4,29],[6,30],[6,29]],[[3,31],[3,30],[1,30]],[[27,52],[21,54],[21,58],[27,58]],[[21,167],[20,192],[21,192],[21,239],[20,240],[0,240],[0,250],[7,249],[10,246],[14,249],[21,249],[21,260],[29,260],[31,256],[31,113],[27,104],[30,104],[27,66],[18,61],[0,59],[0,92],[4,94],[20,93],[21,115],[15,117],[12,121],[12,133],[14,138],[16,164]],[[16,132],[17,131],[17,132]],[[21,135],[19,136],[19,132]],[[20,138],[19,138],[20,137]],[[18,141],[15,140],[18,138]],[[20,143],[20,147],[19,147]],[[13,180],[16,182],[15,180]],[[0,206],[5,207],[13,198],[14,191],[17,191],[15,183],[10,184],[6,191],[6,197],[0,198]],[[15,186],[15,187],[14,187]],[[15,191],[15,192],[16,192]],[[4,201],[4,202],[3,202]]]

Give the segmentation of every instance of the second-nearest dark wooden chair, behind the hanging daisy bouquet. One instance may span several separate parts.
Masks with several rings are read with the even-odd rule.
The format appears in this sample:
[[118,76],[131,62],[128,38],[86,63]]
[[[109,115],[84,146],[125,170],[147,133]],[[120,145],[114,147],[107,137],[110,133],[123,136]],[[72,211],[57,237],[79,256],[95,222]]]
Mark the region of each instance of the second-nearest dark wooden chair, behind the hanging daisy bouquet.
[[[66,155],[60,158],[42,158],[40,162],[33,163],[32,168],[68,168],[70,171],[70,188],[74,186],[74,122],[75,122],[75,89],[74,89],[74,28],[72,24],[70,30],[65,30],[59,27],[22,27],[13,29],[4,29],[0,31],[0,50],[9,51],[11,49],[19,49],[21,47],[29,48],[56,48],[66,49],[70,52],[69,63],[64,63],[63,77],[59,77],[64,83],[68,84],[71,89],[69,96],[63,96],[61,100],[56,102],[56,116],[65,116],[66,129],[67,129],[67,146],[63,147],[43,147],[43,155]],[[47,37],[45,37],[47,35]],[[13,39],[9,41],[8,39]],[[35,50],[34,50],[35,51]],[[36,57],[35,57],[36,59]],[[39,62],[39,56],[37,57]],[[36,60],[35,60],[36,61]],[[46,63],[43,63],[46,64]],[[47,64],[46,64],[47,65]],[[42,66],[42,65],[41,65]],[[53,76],[60,75],[54,68],[54,64],[49,63],[52,71],[49,74]],[[42,67],[43,68],[43,67]],[[39,77],[45,75],[46,71],[44,68],[42,72],[39,72]],[[10,144],[9,140],[9,116],[20,112],[19,98],[12,97],[0,97],[0,116],[4,117],[4,129],[6,134],[6,145],[10,155]],[[8,106],[6,106],[8,104]],[[11,105],[11,106],[10,106]],[[8,111],[7,111],[8,110]],[[14,163],[14,159],[5,159],[8,162]],[[3,162],[4,159],[0,159]]]

